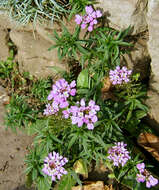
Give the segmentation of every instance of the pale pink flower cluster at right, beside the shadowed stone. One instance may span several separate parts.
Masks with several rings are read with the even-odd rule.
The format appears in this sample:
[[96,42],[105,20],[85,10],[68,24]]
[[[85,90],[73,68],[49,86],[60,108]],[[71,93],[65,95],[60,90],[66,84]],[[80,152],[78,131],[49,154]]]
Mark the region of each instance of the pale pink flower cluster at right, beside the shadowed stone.
[[110,70],[109,78],[113,85],[128,83],[131,73],[132,70],[128,70],[126,67],[120,69],[120,67],[117,66],[115,70]]

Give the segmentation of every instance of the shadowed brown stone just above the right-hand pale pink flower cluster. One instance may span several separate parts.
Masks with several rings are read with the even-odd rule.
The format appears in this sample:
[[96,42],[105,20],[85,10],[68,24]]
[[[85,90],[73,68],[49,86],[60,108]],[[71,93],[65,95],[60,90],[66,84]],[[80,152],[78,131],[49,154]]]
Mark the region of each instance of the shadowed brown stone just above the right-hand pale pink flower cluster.
[[121,63],[126,64],[134,73],[140,73],[141,79],[147,79],[150,75],[151,58],[147,48],[148,35],[140,36],[134,43],[130,54],[124,54]]

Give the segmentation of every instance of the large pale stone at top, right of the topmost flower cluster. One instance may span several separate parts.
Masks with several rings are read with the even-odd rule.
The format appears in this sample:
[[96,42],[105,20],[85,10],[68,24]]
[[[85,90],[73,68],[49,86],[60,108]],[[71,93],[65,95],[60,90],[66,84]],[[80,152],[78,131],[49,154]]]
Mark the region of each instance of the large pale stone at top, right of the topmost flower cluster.
[[138,34],[147,29],[146,5],[147,0],[98,0],[104,10],[108,23],[113,28],[120,30],[133,26],[133,34]]

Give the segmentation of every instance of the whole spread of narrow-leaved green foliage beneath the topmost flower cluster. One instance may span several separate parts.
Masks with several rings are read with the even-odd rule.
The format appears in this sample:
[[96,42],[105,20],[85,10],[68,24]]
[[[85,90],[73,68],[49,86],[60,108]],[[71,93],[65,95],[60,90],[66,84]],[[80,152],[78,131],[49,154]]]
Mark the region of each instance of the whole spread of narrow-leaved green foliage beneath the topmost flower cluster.
[[[79,22],[77,18],[76,22]],[[117,65],[120,65],[121,57],[130,51],[132,44],[125,40],[130,30],[131,27],[120,32],[109,27],[97,27],[92,32],[87,32],[80,39],[79,34],[81,30],[79,27],[76,27],[75,32],[71,34],[63,26],[61,36],[56,31],[54,32],[52,39],[55,45],[49,48],[49,50],[57,48],[60,59],[64,57],[74,58],[79,61],[82,68],[89,64],[89,69],[92,69],[95,73],[103,73],[105,75],[108,74],[105,73],[107,70],[115,69]]]

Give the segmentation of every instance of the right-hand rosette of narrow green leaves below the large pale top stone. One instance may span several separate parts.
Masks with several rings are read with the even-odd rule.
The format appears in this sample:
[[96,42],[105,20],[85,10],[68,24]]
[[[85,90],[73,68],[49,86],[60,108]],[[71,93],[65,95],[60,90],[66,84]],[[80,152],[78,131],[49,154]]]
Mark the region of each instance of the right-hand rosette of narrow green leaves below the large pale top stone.
[[[108,27],[93,30],[90,34],[88,47],[91,49],[89,57],[96,60],[94,70],[98,66],[97,69],[102,69],[102,72],[104,72],[104,70],[115,69],[117,65],[120,65],[121,56],[128,53],[128,48],[131,46],[130,43],[125,41],[130,29],[129,27],[120,32]],[[85,57],[86,60],[89,58],[87,55]]]

